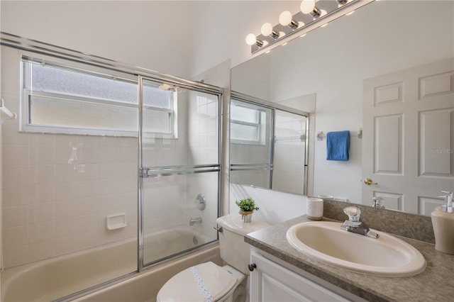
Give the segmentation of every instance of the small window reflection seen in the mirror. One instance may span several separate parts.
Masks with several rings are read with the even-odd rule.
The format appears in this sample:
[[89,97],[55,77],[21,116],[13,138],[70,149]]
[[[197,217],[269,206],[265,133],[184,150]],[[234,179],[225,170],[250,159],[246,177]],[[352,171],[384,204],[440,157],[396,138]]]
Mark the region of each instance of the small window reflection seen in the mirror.
[[232,99],[230,114],[232,142],[265,145],[267,113],[260,106]]

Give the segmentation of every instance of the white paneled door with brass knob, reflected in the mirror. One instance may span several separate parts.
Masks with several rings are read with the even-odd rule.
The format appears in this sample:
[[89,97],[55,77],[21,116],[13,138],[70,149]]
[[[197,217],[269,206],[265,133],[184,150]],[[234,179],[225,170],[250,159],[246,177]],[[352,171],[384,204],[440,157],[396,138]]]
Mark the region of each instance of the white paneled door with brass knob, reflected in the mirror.
[[430,215],[454,189],[454,59],[365,79],[362,203]]

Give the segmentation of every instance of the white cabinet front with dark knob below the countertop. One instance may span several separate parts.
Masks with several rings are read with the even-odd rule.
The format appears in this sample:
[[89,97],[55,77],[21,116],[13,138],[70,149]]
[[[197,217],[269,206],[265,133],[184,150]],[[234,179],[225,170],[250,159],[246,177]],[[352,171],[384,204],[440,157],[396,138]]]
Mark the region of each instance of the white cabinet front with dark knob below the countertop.
[[337,293],[252,252],[250,301],[348,301]]

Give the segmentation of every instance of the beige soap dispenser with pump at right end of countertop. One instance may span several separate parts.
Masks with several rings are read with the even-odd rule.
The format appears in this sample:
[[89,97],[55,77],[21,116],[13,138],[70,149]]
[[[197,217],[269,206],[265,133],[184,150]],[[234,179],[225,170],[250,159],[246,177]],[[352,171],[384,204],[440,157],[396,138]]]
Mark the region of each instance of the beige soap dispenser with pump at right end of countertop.
[[442,191],[445,204],[438,206],[432,212],[432,226],[435,235],[435,249],[446,254],[454,255],[454,213],[453,192]]

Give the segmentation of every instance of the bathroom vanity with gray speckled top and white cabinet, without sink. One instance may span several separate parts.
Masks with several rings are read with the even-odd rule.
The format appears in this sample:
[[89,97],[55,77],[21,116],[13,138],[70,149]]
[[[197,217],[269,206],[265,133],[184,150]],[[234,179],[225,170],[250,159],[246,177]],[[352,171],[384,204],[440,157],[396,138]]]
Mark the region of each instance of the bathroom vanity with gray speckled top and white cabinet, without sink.
[[[245,242],[252,245],[251,263],[256,262],[250,274],[251,301],[277,298],[267,296],[273,292],[292,301],[300,299],[299,293],[309,293],[313,301],[451,301],[454,255],[438,252],[432,243],[396,236],[421,252],[426,269],[405,277],[362,274],[308,257],[287,242],[289,228],[309,221],[300,216],[245,236]],[[262,289],[261,284],[273,286],[273,291]]]

